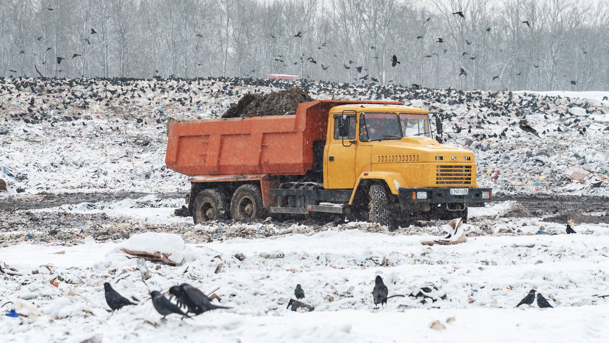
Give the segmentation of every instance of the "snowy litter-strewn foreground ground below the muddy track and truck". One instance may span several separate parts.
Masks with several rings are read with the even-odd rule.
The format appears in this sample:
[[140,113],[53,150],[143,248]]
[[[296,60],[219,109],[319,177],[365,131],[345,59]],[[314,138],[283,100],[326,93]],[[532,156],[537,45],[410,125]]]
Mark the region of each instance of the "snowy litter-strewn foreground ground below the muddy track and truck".
[[[108,214],[125,218],[119,208]],[[2,303],[12,301],[2,309],[16,307],[25,315],[0,316],[0,334],[21,342],[604,340],[609,299],[599,296],[609,294],[609,225],[578,225],[579,233],[566,235],[563,225],[502,217],[507,208],[497,203],[472,211],[465,225],[467,242],[432,247],[421,244],[429,235],[369,232],[363,223],[316,231],[294,224],[269,238],[234,237],[183,247],[167,242],[181,237],[188,242],[194,235],[152,233],[151,249],[165,244],[164,251],[185,260],[176,267],[147,262],[151,277],[145,283],[136,260],[120,250],[146,248],[141,240],[135,245],[138,236],[102,243],[89,237],[73,247],[24,242],[0,250],[4,270],[10,266],[20,274],[0,280]],[[60,210],[65,209],[41,211]],[[131,217],[151,226],[189,221],[169,210],[141,208],[131,211]],[[477,236],[489,217],[497,229],[519,229],[521,234]],[[536,234],[542,224],[549,234]],[[214,224],[190,226],[191,233],[216,229]],[[246,228],[276,229],[273,223]],[[430,234],[440,231],[428,228]],[[376,275],[382,276],[390,295],[406,297],[391,298],[387,306],[375,309],[371,291]],[[55,277],[57,287],[49,284]],[[138,305],[108,313],[106,281]],[[217,289],[221,304],[231,309],[161,320],[149,292],[185,282],[207,292]],[[446,293],[445,300],[423,304],[421,298],[407,296],[430,282]],[[303,300],[314,311],[286,309],[296,284],[303,286]],[[554,309],[515,308],[532,288]],[[430,328],[435,320],[445,330]]]

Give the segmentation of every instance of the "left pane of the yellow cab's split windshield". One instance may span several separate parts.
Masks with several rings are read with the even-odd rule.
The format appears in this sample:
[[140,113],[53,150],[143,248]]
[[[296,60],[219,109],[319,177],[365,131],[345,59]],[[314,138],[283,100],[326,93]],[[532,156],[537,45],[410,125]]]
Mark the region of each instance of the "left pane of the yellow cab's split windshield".
[[398,115],[390,112],[368,112],[359,115],[359,140],[401,139]]

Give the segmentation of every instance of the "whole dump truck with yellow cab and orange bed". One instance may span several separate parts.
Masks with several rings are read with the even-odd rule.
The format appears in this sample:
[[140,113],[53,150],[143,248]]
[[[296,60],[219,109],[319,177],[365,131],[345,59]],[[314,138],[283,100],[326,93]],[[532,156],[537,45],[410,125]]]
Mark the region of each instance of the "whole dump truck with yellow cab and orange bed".
[[395,229],[466,219],[491,200],[477,187],[474,154],[438,143],[428,111],[400,103],[317,100],[294,115],[170,118],[167,134],[167,167],[191,176],[195,223],[326,212]]

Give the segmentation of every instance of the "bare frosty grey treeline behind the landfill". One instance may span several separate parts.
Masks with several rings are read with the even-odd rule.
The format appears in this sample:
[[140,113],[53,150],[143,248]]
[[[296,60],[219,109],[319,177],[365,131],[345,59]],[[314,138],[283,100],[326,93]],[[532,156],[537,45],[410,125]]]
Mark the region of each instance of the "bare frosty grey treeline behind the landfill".
[[2,0],[0,77],[294,74],[414,87],[607,90],[608,7],[589,0]]

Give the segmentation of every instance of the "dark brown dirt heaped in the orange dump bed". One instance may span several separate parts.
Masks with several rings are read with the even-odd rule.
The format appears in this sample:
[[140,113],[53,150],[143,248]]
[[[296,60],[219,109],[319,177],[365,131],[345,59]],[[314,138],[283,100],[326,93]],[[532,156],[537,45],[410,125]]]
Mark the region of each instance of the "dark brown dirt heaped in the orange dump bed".
[[269,93],[268,95],[247,93],[238,103],[231,106],[222,115],[222,118],[296,114],[298,104],[314,100],[309,93],[298,87]]

